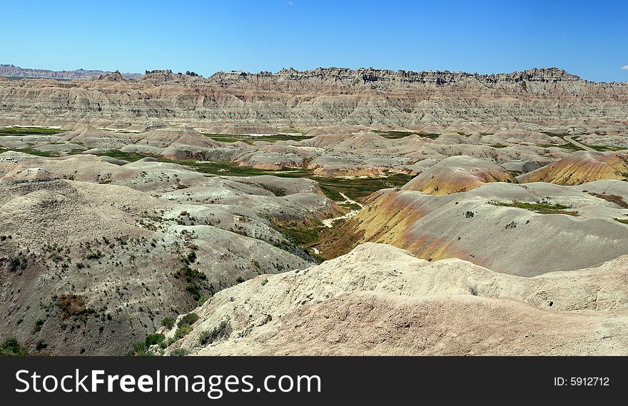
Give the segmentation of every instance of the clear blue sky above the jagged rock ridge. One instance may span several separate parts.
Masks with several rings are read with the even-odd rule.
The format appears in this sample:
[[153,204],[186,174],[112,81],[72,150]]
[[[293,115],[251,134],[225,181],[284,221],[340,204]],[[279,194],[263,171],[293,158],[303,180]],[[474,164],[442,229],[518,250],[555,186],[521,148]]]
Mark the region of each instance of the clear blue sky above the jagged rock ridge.
[[[628,81],[628,1],[11,1],[0,64],[123,72],[557,66]],[[622,69],[625,66],[625,69]]]

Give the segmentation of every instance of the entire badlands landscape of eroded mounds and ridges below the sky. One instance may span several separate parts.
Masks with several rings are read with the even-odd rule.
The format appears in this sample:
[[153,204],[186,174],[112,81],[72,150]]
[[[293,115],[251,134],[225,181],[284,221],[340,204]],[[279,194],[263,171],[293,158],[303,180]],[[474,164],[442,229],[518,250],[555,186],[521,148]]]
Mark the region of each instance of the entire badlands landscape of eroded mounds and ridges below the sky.
[[627,117],[556,68],[0,77],[0,342],[626,354]]

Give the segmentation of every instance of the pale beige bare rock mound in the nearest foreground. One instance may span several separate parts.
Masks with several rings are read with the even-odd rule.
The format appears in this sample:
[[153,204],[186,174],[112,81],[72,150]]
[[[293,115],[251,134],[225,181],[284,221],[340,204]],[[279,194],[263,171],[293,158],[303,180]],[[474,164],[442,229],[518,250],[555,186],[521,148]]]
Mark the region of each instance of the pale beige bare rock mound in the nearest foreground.
[[166,353],[627,355],[627,273],[624,256],[522,278],[365,243],[322,265],[223,290]]

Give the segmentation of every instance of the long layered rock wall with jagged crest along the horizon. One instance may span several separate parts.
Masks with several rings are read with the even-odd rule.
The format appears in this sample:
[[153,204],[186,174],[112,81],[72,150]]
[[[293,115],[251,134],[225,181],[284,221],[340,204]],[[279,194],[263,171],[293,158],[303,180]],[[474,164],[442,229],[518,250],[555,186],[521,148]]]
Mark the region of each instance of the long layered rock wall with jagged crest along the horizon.
[[[418,126],[522,121],[625,122],[625,83],[593,83],[556,68],[477,75],[342,68],[278,73],[147,72],[135,81],[0,82],[0,121],[146,126]],[[119,79],[119,78],[118,78]]]

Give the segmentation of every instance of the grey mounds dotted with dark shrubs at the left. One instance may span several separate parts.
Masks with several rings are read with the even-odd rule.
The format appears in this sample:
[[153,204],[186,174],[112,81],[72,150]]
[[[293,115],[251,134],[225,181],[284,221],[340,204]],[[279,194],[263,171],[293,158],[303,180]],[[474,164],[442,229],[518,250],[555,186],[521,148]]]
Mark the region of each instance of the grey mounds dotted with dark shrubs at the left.
[[338,213],[307,179],[2,153],[0,330],[33,351],[124,354],[203,296],[311,265],[275,223]]

